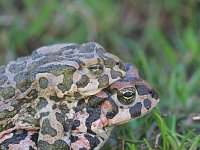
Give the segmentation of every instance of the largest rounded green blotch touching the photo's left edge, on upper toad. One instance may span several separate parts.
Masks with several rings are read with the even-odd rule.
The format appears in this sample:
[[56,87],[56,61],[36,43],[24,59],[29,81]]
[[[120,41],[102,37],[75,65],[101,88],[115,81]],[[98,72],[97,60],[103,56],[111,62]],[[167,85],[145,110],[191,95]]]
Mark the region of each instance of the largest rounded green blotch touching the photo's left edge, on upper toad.
[[12,98],[15,95],[15,89],[13,87],[0,87],[0,95],[4,99]]

